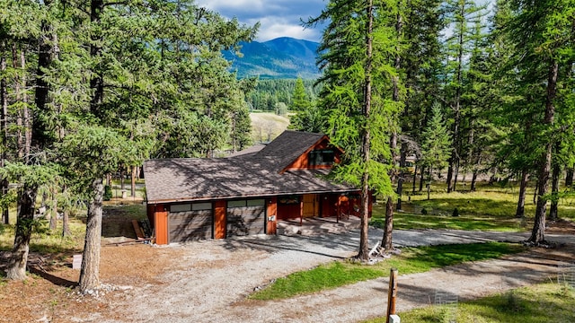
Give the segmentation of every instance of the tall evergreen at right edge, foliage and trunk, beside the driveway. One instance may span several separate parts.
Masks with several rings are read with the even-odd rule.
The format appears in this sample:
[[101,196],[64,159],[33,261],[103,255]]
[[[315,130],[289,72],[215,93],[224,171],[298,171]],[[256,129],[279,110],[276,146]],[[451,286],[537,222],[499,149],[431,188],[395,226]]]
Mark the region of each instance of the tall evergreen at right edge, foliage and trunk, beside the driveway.
[[[519,93],[531,102],[530,127],[535,141],[537,162],[537,205],[535,223],[529,242],[543,243],[547,193],[553,159],[553,147],[558,142],[558,127],[562,120],[562,102],[572,95],[572,62],[575,60],[573,21],[575,2],[513,1],[513,17],[509,22],[509,38],[515,39],[512,69],[521,84]],[[567,91],[563,92],[562,89]],[[533,96],[535,95],[535,98]],[[534,100],[531,100],[534,99]],[[566,109],[563,111],[571,111]],[[515,118],[509,116],[509,118]],[[528,122],[529,120],[522,120]],[[571,131],[572,133],[572,131]]]

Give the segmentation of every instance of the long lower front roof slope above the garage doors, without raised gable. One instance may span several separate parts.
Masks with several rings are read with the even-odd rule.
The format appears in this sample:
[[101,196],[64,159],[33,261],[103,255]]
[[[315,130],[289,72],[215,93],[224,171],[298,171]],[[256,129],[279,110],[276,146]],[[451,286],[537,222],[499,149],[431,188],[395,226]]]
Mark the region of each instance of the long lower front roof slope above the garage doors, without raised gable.
[[144,163],[147,200],[159,203],[355,190],[318,176],[329,170],[279,174],[264,167],[240,158],[149,160]]

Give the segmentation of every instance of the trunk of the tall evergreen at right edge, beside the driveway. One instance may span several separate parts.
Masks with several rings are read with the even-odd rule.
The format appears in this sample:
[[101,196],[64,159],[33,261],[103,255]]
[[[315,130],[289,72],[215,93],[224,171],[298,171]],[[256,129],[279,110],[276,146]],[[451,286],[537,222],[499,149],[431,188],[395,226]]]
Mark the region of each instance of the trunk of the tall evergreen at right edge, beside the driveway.
[[[555,114],[555,106],[553,100],[557,92],[557,74],[559,70],[559,64],[557,61],[552,59],[549,66],[549,77],[547,81],[547,98],[545,102],[545,117],[544,125],[546,127],[551,127],[553,125],[553,117]],[[548,141],[545,144],[545,153],[542,156],[542,160],[539,163],[539,179],[537,180],[537,206],[535,209],[535,223],[533,224],[533,231],[531,231],[531,237],[529,242],[543,243],[545,241],[545,211],[547,208],[547,200],[545,199],[545,194],[547,194],[547,189],[549,188],[549,172],[551,170],[551,157],[553,151],[553,142]]]

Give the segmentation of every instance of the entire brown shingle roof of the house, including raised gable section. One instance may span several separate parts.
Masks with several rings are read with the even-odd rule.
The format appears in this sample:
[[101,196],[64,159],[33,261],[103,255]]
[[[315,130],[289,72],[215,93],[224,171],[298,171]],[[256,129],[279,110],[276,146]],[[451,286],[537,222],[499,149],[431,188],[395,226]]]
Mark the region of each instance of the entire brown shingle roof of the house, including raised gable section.
[[279,173],[322,138],[321,134],[286,131],[255,154],[146,161],[148,203],[356,190],[320,176],[329,170]]

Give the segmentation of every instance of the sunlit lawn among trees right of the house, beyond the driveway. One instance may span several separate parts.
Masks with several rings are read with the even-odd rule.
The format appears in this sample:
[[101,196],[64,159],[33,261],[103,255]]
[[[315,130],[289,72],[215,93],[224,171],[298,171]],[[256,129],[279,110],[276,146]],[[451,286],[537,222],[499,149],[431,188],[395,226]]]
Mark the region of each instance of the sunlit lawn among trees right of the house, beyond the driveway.
[[[403,196],[403,211],[394,214],[394,229],[454,229],[478,231],[529,231],[533,226],[535,205],[533,191],[526,196],[526,217],[515,217],[518,188],[482,184],[476,192],[447,194],[443,184],[435,188],[427,199],[421,192]],[[407,201],[406,201],[407,200]],[[562,198],[559,205],[561,218],[575,220],[575,200]],[[452,216],[457,209],[459,216]],[[385,205],[374,206],[371,224],[383,227]]]

